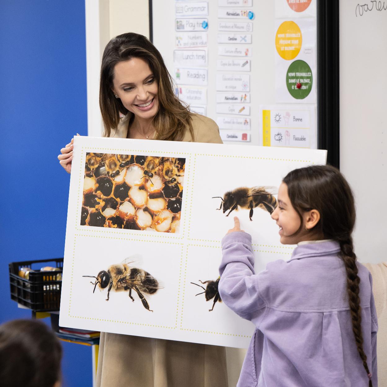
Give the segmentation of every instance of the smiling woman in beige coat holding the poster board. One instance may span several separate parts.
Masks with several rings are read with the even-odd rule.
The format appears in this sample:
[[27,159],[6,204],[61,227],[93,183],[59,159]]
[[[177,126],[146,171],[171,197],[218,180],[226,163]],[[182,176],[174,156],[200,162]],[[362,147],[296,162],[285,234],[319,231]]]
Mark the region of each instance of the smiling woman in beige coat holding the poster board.
[[[193,114],[173,92],[161,54],[142,35],[127,33],[105,48],[99,89],[105,137],[221,143],[211,119]],[[123,118],[120,119],[120,116]],[[60,164],[71,171],[72,141]],[[225,387],[224,347],[102,333],[97,385]]]

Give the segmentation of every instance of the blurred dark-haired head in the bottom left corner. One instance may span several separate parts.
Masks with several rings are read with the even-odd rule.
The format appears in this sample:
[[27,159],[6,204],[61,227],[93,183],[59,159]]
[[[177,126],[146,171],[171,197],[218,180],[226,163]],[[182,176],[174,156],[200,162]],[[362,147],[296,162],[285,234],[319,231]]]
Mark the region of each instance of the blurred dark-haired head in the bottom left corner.
[[62,347],[47,325],[14,320],[0,325],[0,385],[59,387]]

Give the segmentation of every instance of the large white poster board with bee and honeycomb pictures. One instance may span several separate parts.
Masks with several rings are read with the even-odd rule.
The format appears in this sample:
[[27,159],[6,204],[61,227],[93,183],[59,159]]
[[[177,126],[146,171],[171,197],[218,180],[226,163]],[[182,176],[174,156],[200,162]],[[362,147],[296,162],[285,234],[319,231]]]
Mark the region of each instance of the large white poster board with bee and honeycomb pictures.
[[289,259],[293,246],[279,243],[264,205],[256,203],[252,221],[250,209],[226,217],[219,206],[228,191],[278,187],[288,171],[325,158],[309,149],[75,137],[60,325],[247,348],[252,323],[195,296],[197,285],[218,278],[234,214],[253,236],[257,272]]

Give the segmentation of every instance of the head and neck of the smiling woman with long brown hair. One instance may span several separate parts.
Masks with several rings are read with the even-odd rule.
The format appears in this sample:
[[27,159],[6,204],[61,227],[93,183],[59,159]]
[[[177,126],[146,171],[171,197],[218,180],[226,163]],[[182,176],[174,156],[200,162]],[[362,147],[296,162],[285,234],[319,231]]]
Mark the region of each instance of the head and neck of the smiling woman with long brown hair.
[[[123,137],[122,133],[116,136],[122,125],[127,138],[181,141],[188,134],[195,137],[193,115],[173,92],[161,54],[139,34],[119,35],[106,46],[99,106],[107,137]],[[120,113],[125,115],[121,122]]]

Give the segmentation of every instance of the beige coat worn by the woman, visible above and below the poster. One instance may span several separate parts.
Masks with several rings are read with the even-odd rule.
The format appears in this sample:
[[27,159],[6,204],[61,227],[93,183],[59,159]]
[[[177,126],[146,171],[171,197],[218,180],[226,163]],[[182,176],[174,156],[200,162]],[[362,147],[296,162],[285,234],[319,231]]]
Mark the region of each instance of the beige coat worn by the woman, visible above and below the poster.
[[[210,118],[192,114],[196,142],[221,144]],[[126,138],[128,116],[111,137]],[[186,133],[183,141],[192,141]],[[128,333],[130,330],[128,330]],[[227,387],[224,347],[101,332],[97,387]]]

